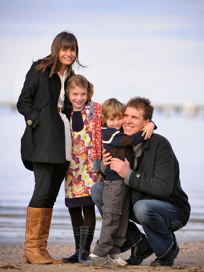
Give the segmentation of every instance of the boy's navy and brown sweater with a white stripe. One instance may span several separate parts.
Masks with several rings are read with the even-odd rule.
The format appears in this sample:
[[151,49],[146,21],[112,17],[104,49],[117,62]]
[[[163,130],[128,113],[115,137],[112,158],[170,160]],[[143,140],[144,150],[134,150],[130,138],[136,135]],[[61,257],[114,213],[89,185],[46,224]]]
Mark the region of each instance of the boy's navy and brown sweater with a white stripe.
[[[115,128],[108,128],[104,123],[102,128],[102,142],[103,147],[110,153],[112,158],[118,158],[125,161],[125,158],[131,162],[131,150],[132,146],[142,143],[144,137],[142,137],[143,131],[139,131],[132,135],[127,135]],[[117,172],[110,169],[108,165],[105,169],[106,180],[118,180],[123,179]]]

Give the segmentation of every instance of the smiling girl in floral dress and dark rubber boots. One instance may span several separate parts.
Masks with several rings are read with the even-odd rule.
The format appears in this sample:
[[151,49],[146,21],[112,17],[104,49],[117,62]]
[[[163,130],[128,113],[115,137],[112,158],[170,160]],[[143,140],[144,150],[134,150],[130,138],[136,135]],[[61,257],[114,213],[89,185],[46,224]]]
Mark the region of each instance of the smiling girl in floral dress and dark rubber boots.
[[65,204],[71,216],[76,252],[71,257],[62,258],[65,263],[89,260],[94,237],[96,219],[90,188],[103,178],[99,173],[101,106],[91,101],[93,94],[93,84],[82,75],[74,75],[68,80],[67,96],[72,103],[72,157],[65,177]]

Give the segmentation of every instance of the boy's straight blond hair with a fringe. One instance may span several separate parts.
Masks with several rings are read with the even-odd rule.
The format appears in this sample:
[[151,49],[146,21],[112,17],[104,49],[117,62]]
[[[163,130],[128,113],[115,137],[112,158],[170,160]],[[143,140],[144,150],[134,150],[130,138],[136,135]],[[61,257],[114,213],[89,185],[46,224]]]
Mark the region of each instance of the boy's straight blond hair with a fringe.
[[121,103],[115,98],[107,99],[101,107],[101,117],[103,122],[106,122],[107,119],[117,116],[123,116],[126,110],[125,104]]

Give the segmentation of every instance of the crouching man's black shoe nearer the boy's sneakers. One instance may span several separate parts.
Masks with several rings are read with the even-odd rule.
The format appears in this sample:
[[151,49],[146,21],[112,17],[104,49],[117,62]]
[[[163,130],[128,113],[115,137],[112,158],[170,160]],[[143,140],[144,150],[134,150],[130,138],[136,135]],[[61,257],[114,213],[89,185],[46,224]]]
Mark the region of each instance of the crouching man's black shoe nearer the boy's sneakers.
[[146,235],[142,233],[141,238],[142,241],[131,249],[131,256],[126,260],[130,265],[139,265],[144,259],[154,253]]

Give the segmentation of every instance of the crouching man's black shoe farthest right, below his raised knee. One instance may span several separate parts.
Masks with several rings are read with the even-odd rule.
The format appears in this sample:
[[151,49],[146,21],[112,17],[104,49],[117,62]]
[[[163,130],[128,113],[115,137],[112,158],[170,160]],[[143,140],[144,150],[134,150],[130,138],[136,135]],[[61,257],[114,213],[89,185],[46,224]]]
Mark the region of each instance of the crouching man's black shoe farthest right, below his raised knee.
[[171,234],[174,242],[173,247],[162,258],[156,258],[153,262],[151,262],[150,266],[172,266],[174,264],[174,259],[179,253],[179,246],[174,233]]

